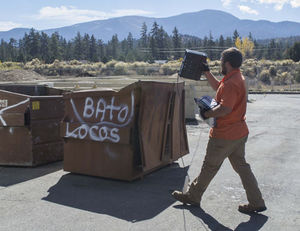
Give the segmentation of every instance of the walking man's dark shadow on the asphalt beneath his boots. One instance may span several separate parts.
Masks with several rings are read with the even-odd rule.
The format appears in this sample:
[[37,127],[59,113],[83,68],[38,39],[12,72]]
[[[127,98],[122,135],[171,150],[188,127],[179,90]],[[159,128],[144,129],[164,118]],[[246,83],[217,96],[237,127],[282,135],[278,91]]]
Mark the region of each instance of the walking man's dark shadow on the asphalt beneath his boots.
[[189,210],[194,216],[199,217],[210,230],[212,231],[258,231],[267,222],[268,217],[262,214],[251,214],[249,221],[240,223],[234,230],[230,229],[220,222],[218,222],[213,216],[206,213],[202,208],[176,205],[174,208]]

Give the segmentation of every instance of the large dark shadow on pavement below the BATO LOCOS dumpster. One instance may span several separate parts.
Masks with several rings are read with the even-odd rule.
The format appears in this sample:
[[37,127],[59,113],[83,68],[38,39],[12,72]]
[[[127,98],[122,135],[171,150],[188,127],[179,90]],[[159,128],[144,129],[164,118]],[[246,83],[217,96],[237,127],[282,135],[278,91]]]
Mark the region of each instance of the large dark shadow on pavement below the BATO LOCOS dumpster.
[[174,203],[171,192],[182,188],[187,169],[172,164],[134,182],[69,173],[43,200],[131,222],[147,220]]

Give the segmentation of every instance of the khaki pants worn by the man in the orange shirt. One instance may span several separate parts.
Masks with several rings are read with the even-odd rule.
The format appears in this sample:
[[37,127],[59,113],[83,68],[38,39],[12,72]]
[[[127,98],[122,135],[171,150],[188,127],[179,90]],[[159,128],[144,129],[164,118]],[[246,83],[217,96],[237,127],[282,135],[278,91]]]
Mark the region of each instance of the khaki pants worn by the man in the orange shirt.
[[265,205],[256,178],[245,160],[247,138],[248,136],[238,140],[209,139],[200,175],[192,182],[188,191],[193,200],[201,201],[207,186],[220,169],[224,159],[228,157],[233,169],[242,180],[249,204],[253,206]]

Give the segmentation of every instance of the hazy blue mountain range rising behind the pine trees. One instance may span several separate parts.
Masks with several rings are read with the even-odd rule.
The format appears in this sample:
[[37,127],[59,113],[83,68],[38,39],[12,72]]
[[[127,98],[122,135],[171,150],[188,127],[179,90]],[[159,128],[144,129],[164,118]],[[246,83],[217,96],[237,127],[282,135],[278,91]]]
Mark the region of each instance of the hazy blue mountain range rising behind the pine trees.
[[[184,13],[166,18],[151,18],[143,16],[124,16],[106,20],[96,20],[85,23],[78,23],[72,26],[42,30],[48,35],[58,32],[67,40],[87,33],[94,35],[97,39],[107,42],[113,35],[117,34],[119,40],[128,36],[131,32],[134,38],[140,38],[141,27],[145,22],[148,32],[154,22],[163,26],[168,34],[172,34],[176,26],[180,34],[192,35],[203,38],[211,33],[216,39],[220,35],[232,36],[237,30],[241,37],[246,37],[251,32],[255,39],[271,39],[300,35],[300,23],[291,21],[270,22],[266,20],[242,20],[232,14],[218,10],[202,10],[194,13]],[[9,31],[0,32],[0,39],[8,41],[10,38],[23,38],[30,28],[15,28]]]

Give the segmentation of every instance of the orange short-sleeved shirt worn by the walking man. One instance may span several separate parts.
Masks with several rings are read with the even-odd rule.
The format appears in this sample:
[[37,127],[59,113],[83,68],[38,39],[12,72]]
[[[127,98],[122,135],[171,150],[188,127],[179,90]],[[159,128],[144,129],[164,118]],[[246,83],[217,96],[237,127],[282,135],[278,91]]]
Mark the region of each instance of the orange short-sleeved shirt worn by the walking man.
[[210,130],[210,137],[236,140],[248,135],[246,124],[247,93],[245,78],[240,70],[228,73],[218,87],[216,101],[232,111],[217,118],[216,127]]

